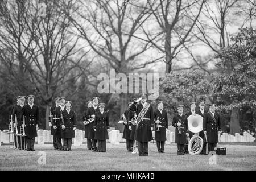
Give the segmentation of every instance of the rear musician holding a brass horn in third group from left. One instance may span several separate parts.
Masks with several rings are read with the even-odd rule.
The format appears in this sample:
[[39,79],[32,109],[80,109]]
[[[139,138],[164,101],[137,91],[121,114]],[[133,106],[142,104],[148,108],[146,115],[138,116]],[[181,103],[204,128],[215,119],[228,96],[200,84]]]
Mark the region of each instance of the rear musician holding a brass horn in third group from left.
[[[95,113],[100,111],[98,108],[98,100],[99,100],[98,97],[92,98],[93,106],[88,108],[87,113],[86,113],[86,119],[95,119]],[[87,139],[91,140],[92,148],[93,148],[92,151],[97,152],[97,140],[94,139],[95,131],[93,129],[93,122],[89,123]]]

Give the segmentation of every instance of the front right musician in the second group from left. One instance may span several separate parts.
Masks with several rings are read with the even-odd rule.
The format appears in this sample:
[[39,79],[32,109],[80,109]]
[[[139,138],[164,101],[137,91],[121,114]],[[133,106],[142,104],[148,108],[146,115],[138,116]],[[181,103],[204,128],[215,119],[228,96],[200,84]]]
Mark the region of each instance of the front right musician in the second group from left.
[[72,102],[65,102],[65,109],[63,110],[63,122],[61,122],[61,137],[64,142],[64,150],[72,151],[72,139],[75,137],[76,130],[76,114],[73,110],[71,110]]

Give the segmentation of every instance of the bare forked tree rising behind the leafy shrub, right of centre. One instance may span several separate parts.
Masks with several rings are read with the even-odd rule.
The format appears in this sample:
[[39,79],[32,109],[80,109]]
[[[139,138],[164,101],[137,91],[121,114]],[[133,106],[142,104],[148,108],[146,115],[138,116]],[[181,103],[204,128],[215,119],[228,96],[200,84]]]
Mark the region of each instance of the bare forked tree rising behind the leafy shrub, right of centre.
[[144,28],[144,33],[148,42],[164,55],[166,73],[169,73],[185,46],[192,46],[195,41],[191,32],[205,1],[148,0],[148,3],[154,17],[150,24],[156,26]]

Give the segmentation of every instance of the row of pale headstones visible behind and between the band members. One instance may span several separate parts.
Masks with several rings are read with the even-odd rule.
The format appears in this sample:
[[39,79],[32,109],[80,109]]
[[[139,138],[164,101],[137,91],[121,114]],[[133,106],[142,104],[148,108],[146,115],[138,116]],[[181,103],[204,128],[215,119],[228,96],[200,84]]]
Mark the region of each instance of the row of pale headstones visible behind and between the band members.
[[[1,143],[8,144],[9,143],[9,134],[8,130],[0,131],[0,145]],[[86,143],[86,138],[84,137],[85,131],[75,130],[76,137],[73,138],[72,143],[74,146],[81,146],[82,143]],[[109,139],[108,143],[119,144],[126,142],[125,139],[122,138],[123,133],[120,133],[119,130],[115,130],[114,128],[108,129]],[[152,131],[153,138],[155,137],[155,131]],[[174,143],[175,142],[175,128],[170,126],[166,131],[166,143]],[[228,133],[223,133],[222,135],[218,135],[219,142],[254,142],[255,138],[251,136],[246,131],[243,133],[243,136],[239,133],[236,133],[235,136],[230,135]],[[10,141],[12,142],[12,137],[10,137]],[[38,137],[35,138],[35,142],[38,144],[47,144],[52,143],[52,135],[49,130],[38,130]]]

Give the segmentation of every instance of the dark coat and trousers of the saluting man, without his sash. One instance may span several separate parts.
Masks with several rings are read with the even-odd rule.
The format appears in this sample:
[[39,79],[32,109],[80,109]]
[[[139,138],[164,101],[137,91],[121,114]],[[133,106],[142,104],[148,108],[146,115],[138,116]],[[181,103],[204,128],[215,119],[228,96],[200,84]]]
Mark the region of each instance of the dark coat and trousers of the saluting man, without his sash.
[[[142,103],[136,104],[134,102],[130,106],[130,110],[135,111],[137,116],[143,109]],[[135,140],[138,142],[139,156],[148,156],[148,142],[153,140],[151,127],[154,126],[154,112],[150,105],[144,117],[139,124],[137,123],[137,129],[135,130]]]

